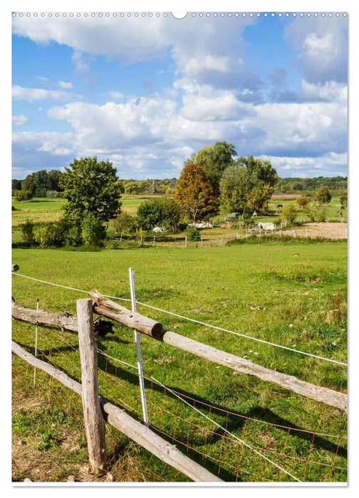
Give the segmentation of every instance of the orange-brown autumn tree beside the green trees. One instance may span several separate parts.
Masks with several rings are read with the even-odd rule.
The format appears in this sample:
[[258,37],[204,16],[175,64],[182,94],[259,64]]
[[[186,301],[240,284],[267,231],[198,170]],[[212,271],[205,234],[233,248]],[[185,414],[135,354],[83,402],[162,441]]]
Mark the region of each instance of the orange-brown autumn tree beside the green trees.
[[186,161],[174,194],[187,219],[208,221],[218,210],[217,198],[204,166]]

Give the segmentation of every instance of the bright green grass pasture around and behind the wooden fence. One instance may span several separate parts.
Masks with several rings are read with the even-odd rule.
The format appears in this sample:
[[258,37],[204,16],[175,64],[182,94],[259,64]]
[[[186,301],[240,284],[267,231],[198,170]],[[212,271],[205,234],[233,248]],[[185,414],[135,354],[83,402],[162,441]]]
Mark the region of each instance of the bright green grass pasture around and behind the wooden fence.
[[[104,295],[127,299],[130,297],[128,268],[133,267],[139,302],[251,337],[346,362],[347,244],[344,241],[268,242],[187,249],[143,248],[97,253],[14,249],[13,263],[19,265],[19,273],[24,275],[79,290],[97,289]],[[35,308],[39,299],[43,309],[67,310],[73,314],[76,314],[76,300],[86,296],[82,292],[52,287],[16,275],[13,277],[12,294],[16,302],[26,307]],[[128,306],[128,303],[124,305]],[[219,332],[140,304],[138,311],[186,337],[304,381],[346,391],[344,366]],[[27,349],[33,349],[34,328],[14,322],[14,340]],[[40,329],[42,339],[39,338],[39,349],[52,351],[51,358],[56,364],[78,376],[76,337],[66,332],[49,336],[48,329]],[[61,337],[66,337],[70,345],[64,346]],[[117,325],[115,336],[99,339],[98,344],[109,356],[136,364],[132,331]],[[340,410],[257,378],[236,374],[224,366],[209,363],[149,337],[142,337],[142,357],[147,378],[153,377],[184,396],[229,410],[236,417],[261,420],[262,425],[251,422],[244,424],[244,428],[243,424],[237,424],[237,418],[230,418],[229,423],[223,415],[213,415],[222,424],[229,423],[231,431],[238,437],[246,438],[251,445],[263,448],[269,441],[269,454],[266,455],[283,465],[288,464],[288,471],[294,475],[308,481],[346,480],[344,470],[334,470],[331,475],[336,446],[329,437],[316,436],[318,442],[313,447],[310,438],[299,438],[292,433],[286,440],[285,430],[276,427],[273,432],[272,429],[268,431],[268,424],[272,423],[325,435],[345,436],[346,416]],[[17,364],[20,369],[19,362]],[[100,370],[100,393],[120,405],[119,400],[125,399],[126,408],[139,415],[140,398],[135,375],[111,360],[101,360]],[[21,377],[22,383],[25,378]],[[31,375],[28,382],[32,382]],[[48,392],[47,386],[45,384],[44,392]],[[231,452],[238,452],[239,447],[227,446],[226,443],[222,448],[222,439],[218,434],[212,434],[208,442],[207,435],[204,439],[203,431],[196,430],[195,425],[187,428],[186,420],[192,415],[186,406],[180,408],[182,418],[176,418],[174,423],[170,414],[178,410],[175,401],[168,394],[164,398],[160,388],[151,389],[150,381],[146,386],[151,396],[151,423],[172,434],[172,438],[175,438],[173,430],[176,431],[176,439],[181,441],[190,436],[196,451],[204,451],[205,447],[207,460],[203,465],[209,465],[209,468],[221,452],[221,458],[227,458],[227,463],[222,463],[222,475],[226,480],[234,480],[236,472],[230,462],[235,460],[235,456]],[[40,387],[38,389],[41,391]],[[200,419],[199,415],[194,415],[194,421],[206,428],[207,420]],[[289,463],[283,457],[284,440],[288,446],[286,455],[296,458]],[[335,465],[339,467],[345,467],[344,440],[342,446],[335,460]],[[308,465],[304,459],[302,462],[300,456],[307,455],[309,451],[313,460],[326,462],[327,466],[316,462]],[[146,455],[143,452],[136,455],[138,465],[142,465],[142,461],[145,465]],[[156,480],[153,477],[156,465],[160,464],[151,463],[152,474],[149,470],[148,480]],[[239,480],[288,480],[286,475],[279,476],[278,470],[271,465],[259,462],[250,450],[245,451],[238,472]]]

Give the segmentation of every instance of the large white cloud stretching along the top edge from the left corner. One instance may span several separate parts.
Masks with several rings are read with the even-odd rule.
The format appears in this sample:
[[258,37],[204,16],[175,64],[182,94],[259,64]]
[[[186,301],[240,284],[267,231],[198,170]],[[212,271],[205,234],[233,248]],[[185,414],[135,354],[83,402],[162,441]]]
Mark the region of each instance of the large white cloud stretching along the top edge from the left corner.
[[[204,21],[204,22],[202,22]],[[76,70],[88,70],[92,56],[105,55],[124,64],[165,58],[175,60],[177,73],[195,77],[199,83],[229,82],[229,75],[242,61],[242,31],[255,18],[187,17],[182,21],[168,16],[125,19],[102,18],[13,18],[13,31],[36,43],[56,41],[73,48]],[[100,41],[100,43],[99,43]]]

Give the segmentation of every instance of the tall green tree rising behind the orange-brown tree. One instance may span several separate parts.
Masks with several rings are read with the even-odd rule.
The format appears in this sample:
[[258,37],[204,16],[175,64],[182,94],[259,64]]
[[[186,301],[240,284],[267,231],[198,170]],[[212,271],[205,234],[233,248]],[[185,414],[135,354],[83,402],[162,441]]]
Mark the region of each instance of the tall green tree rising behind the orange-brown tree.
[[234,156],[236,156],[236,150],[233,144],[216,142],[214,145],[203,147],[194,157],[195,164],[204,166],[216,195],[219,195],[219,183],[222,174],[234,163]]

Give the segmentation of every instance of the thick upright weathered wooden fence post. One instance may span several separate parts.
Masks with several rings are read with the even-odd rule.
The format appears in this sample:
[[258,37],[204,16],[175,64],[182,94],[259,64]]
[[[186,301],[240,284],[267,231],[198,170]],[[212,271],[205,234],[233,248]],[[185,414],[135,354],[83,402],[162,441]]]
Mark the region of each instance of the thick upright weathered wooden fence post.
[[78,346],[80,349],[83,417],[90,466],[95,473],[104,470],[107,461],[105,421],[98,398],[98,358],[93,332],[93,303],[90,299],[76,302]]

